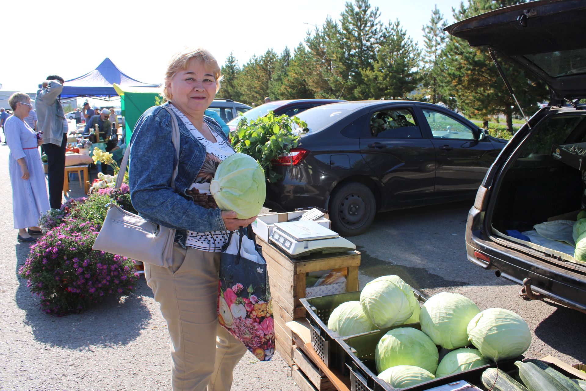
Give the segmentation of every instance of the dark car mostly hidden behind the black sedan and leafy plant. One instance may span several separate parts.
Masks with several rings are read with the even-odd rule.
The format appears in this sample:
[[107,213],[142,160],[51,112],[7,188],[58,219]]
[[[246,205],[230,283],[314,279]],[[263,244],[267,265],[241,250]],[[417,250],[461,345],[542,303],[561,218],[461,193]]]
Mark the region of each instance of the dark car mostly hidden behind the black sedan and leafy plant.
[[246,117],[248,123],[257,119],[258,117],[264,117],[269,111],[272,111],[275,115],[287,114],[287,117],[293,117],[298,115],[308,108],[322,106],[328,103],[345,102],[340,99],[290,99],[290,100],[274,100],[268,103],[261,104],[246,113],[240,113],[239,117],[231,120],[227,125],[230,127],[230,131],[236,130],[238,123],[242,117]]

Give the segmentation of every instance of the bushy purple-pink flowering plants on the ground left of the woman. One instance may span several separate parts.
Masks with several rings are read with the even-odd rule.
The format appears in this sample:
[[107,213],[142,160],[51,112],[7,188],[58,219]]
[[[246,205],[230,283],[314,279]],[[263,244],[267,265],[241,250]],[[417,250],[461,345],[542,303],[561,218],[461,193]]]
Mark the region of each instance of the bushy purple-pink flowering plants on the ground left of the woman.
[[110,195],[96,193],[66,203],[62,223],[30,247],[19,274],[47,314],[81,312],[108,296],[121,297],[134,289],[138,273],[133,260],[91,249],[108,202]]

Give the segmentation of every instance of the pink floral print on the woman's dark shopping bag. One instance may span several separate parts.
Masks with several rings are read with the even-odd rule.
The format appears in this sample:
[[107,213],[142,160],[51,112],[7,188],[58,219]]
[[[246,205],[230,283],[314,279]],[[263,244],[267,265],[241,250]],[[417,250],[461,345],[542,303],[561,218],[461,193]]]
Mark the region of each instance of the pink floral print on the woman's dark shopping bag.
[[275,352],[275,331],[270,291],[267,289],[264,297],[260,295],[263,291],[263,283],[246,288],[241,283],[220,280],[218,320],[257,359],[268,361]]

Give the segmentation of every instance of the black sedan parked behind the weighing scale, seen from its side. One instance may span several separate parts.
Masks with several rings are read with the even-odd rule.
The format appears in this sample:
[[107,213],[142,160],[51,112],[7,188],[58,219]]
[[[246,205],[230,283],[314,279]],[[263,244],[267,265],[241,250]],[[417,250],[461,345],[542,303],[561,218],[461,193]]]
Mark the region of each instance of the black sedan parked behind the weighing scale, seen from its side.
[[267,199],[282,209],[328,209],[343,236],[377,211],[473,198],[506,141],[435,104],[355,101],[298,114],[307,123]]

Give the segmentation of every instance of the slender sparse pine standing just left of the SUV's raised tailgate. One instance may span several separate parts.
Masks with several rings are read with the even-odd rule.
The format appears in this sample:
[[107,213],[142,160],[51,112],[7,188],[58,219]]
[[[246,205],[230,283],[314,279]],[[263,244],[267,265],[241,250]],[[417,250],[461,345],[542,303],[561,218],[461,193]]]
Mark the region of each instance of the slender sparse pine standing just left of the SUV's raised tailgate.
[[427,26],[423,26],[424,54],[423,54],[423,83],[424,90],[430,95],[431,103],[447,101],[449,96],[445,96],[445,69],[442,52],[448,40],[448,33],[444,28],[448,26],[448,21],[444,15],[435,6],[431,11],[431,19]]

